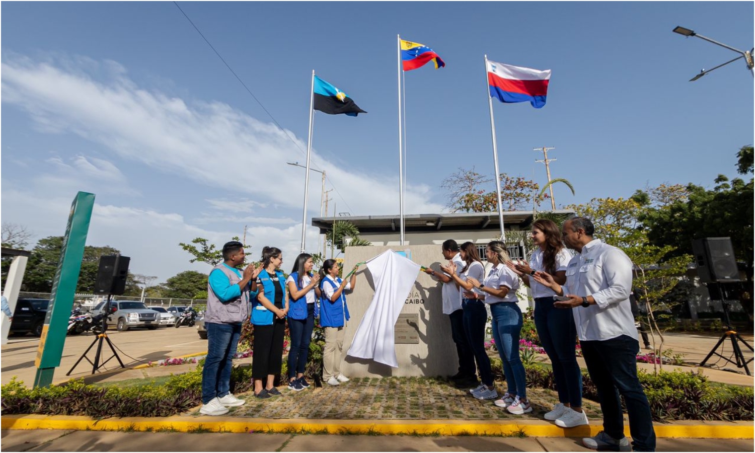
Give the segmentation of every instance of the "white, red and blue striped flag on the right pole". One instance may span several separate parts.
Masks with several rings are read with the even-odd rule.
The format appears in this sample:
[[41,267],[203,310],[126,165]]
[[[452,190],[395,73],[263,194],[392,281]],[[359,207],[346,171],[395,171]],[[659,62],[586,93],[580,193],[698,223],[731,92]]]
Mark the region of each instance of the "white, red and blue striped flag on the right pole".
[[550,69],[512,66],[487,61],[490,96],[503,103],[529,102],[535,109],[545,105]]

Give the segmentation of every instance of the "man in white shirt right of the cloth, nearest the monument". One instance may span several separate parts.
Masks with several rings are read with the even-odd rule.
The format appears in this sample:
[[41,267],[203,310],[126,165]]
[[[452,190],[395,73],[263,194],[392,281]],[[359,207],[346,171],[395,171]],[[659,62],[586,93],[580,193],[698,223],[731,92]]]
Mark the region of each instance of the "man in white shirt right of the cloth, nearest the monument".
[[[443,257],[451,260],[456,264],[456,273],[461,275],[464,269],[464,260],[459,253],[459,245],[453,239],[448,239],[442,245]],[[459,358],[459,369],[451,379],[456,381],[458,387],[476,387],[477,385],[477,368],[474,364],[474,353],[467,340],[467,334],[464,331],[464,311],[461,310],[461,288],[456,285],[454,279],[446,273],[437,272],[430,268],[425,270],[430,276],[436,277],[443,283],[442,299],[443,314],[448,315],[451,320],[451,338],[456,344],[456,354]]]

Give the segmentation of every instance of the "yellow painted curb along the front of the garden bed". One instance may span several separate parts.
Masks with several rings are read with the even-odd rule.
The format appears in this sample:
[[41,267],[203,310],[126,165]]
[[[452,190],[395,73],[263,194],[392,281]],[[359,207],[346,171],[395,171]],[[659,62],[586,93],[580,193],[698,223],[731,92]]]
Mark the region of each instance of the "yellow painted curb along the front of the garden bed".
[[[547,421],[328,421],[300,419],[258,419],[174,416],[166,418],[106,418],[96,421],[83,416],[8,415],[2,417],[4,430],[102,430],[102,431],[212,431],[223,433],[328,433],[328,434],[419,434],[439,436],[528,436],[587,437],[602,427],[562,429]],[[625,427],[627,436],[629,427]],[[688,421],[656,424],[658,438],[753,439],[752,422]]]

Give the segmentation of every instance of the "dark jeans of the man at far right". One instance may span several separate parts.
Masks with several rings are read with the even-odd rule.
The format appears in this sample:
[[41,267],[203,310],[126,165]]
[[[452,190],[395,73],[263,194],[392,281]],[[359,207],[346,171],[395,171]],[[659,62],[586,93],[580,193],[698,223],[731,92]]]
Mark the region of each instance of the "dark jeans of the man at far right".
[[621,399],[627,405],[634,451],[655,451],[655,430],[648,399],[637,378],[639,341],[620,335],[604,341],[581,341],[587,372],[595,383],[603,413],[603,430],[614,439],[624,437]]

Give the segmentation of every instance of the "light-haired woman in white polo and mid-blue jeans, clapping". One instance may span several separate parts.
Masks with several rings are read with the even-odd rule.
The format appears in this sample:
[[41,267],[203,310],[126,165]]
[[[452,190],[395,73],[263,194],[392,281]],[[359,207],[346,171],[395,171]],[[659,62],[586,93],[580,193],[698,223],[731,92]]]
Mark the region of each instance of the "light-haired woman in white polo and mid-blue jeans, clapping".
[[[522,310],[519,310],[519,305],[516,304],[519,277],[506,267],[505,263],[511,258],[503,242],[488,242],[485,255],[488,257],[488,262],[493,265],[485,281],[479,282],[472,277],[467,277],[467,281],[472,282],[479,291],[485,294],[485,304],[490,305],[493,338],[504,365],[508,390],[501,399],[495,401],[495,405],[507,408],[512,414],[525,414],[532,411],[532,406],[527,399],[524,365],[519,359],[519,334],[522,331],[523,321]],[[491,390],[495,393],[495,389],[486,387],[472,394],[476,398],[487,399],[485,396]]]

